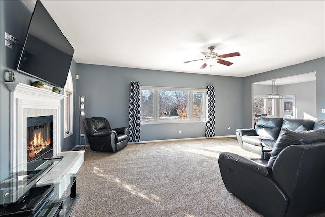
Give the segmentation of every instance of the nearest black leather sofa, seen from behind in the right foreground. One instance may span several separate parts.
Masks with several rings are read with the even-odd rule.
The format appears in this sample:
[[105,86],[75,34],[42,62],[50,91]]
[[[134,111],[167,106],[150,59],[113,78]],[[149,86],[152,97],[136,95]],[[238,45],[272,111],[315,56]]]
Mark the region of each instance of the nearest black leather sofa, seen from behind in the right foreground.
[[304,216],[325,208],[325,130],[286,131],[269,160],[221,152],[226,189],[263,216]]

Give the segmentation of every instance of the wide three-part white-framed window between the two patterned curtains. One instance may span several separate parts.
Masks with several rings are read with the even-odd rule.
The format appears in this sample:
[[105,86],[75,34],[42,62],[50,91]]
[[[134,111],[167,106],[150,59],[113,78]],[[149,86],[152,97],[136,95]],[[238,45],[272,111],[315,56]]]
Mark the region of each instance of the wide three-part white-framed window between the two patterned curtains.
[[205,89],[141,86],[141,122],[205,120]]

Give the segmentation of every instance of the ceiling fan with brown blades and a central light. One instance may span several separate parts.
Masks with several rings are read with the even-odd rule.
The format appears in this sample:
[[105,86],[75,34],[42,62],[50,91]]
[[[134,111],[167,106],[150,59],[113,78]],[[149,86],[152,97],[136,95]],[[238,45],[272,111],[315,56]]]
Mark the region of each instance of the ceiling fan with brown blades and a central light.
[[235,53],[228,53],[228,54],[223,54],[223,55],[219,55],[215,52],[212,52],[214,50],[214,46],[210,46],[208,47],[208,49],[210,50],[210,52],[201,52],[204,55],[204,59],[197,59],[197,60],[192,60],[192,61],[186,61],[184,62],[184,64],[186,63],[190,63],[190,62],[194,62],[194,61],[200,61],[200,60],[206,60],[205,63],[200,67],[200,69],[204,69],[206,66],[214,66],[216,63],[219,64],[223,64],[226,66],[230,66],[233,63],[223,60],[222,58],[228,58],[228,57],[233,57],[233,56],[240,56],[240,53],[235,52]]

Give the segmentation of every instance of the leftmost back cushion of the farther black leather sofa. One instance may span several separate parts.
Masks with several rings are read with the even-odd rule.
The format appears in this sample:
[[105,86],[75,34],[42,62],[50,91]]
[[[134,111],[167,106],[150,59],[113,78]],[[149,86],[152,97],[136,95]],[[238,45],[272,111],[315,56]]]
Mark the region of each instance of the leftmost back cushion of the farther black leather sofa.
[[282,126],[282,118],[261,117],[257,120],[255,131],[259,136],[277,139]]

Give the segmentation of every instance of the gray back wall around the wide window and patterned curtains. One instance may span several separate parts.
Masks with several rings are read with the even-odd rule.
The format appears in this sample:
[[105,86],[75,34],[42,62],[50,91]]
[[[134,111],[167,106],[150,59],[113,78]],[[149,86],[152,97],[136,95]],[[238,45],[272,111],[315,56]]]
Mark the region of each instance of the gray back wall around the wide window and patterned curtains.
[[[90,64],[77,64],[77,95],[86,96],[86,117],[107,118],[111,127],[129,126],[131,81],[143,86],[206,88],[215,86],[216,136],[235,135],[242,125],[242,78],[199,75]],[[228,130],[228,127],[231,130]],[[182,131],[179,134],[179,130]],[[141,141],[205,136],[204,123],[152,124],[141,126]]]

